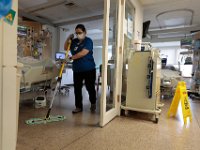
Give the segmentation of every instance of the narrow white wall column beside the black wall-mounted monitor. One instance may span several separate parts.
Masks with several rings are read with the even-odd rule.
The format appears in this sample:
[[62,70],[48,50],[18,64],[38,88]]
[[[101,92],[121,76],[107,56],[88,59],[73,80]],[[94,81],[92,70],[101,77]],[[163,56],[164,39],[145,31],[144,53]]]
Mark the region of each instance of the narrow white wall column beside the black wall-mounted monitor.
[[135,7],[135,40],[142,39],[143,6],[139,0],[130,0]]

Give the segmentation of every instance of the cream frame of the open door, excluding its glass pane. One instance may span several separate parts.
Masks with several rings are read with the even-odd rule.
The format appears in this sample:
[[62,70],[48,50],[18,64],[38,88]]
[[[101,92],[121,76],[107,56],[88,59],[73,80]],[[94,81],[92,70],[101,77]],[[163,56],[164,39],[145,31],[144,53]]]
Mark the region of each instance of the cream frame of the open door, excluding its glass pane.
[[118,0],[117,5],[117,44],[116,44],[116,69],[115,69],[115,76],[114,76],[114,82],[115,87],[113,91],[113,100],[114,100],[114,107],[106,111],[106,91],[107,91],[107,65],[108,65],[108,41],[109,41],[109,15],[110,15],[110,0],[104,0],[104,21],[103,21],[103,51],[102,51],[102,94],[100,99],[100,126],[104,127],[107,123],[109,123],[112,119],[114,119],[116,116],[120,114],[120,94],[121,92],[121,86],[120,86],[120,79],[121,78],[121,65],[120,60],[122,57],[122,45],[123,42],[121,40],[123,39],[123,5],[125,2],[124,0]]

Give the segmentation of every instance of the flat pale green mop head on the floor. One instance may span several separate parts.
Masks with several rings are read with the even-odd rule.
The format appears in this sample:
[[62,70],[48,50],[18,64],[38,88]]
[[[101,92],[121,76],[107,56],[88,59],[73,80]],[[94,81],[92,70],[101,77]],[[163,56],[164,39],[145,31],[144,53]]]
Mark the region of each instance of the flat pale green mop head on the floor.
[[46,124],[50,122],[58,122],[65,120],[65,116],[57,115],[57,116],[50,116],[49,118],[31,118],[29,120],[26,120],[25,123],[28,125],[34,125],[34,124]]

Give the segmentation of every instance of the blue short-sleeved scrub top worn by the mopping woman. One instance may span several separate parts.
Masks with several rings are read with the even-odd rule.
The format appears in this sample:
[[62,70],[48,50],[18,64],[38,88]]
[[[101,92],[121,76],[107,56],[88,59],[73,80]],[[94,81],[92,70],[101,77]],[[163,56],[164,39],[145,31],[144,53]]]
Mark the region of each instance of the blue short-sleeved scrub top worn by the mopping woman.
[[84,57],[73,61],[72,69],[74,72],[85,72],[95,69],[92,40],[88,37],[85,37],[85,39],[81,43],[79,43],[79,40],[77,38],[72,40],[72,44],[70,47],[72,55],[79,53],[83,49],[89,50],[89,53]]

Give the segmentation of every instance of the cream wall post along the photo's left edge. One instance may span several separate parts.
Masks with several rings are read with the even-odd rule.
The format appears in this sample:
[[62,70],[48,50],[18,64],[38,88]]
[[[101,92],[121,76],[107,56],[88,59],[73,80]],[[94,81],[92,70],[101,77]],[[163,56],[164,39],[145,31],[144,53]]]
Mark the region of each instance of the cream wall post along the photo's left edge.
[[13,25],[0,20],[0,150],[15,150],[17,142],[17,24],[18,0],[12,2],[16,11]]

